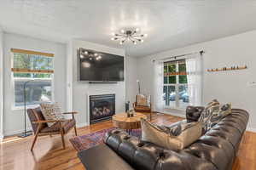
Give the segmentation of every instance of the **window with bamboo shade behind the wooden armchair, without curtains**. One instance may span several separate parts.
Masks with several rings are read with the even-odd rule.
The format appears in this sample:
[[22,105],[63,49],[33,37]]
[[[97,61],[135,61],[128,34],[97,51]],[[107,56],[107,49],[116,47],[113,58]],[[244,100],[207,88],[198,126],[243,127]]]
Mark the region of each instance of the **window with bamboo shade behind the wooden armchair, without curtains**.
[[[14,105],[38,105],[53,99],[53,54],[12,48]],[[25,88],[26,87],[26,88]]]

